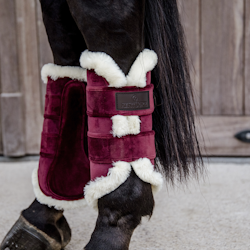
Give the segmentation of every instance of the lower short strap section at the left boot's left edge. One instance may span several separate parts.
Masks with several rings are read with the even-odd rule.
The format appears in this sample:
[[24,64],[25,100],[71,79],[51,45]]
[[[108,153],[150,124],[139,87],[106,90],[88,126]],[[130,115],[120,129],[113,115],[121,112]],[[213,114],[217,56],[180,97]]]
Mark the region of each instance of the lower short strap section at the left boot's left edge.
[[41,153],[53,155],[56,153],[57,145],[58,145],[57,134],[42,133]]

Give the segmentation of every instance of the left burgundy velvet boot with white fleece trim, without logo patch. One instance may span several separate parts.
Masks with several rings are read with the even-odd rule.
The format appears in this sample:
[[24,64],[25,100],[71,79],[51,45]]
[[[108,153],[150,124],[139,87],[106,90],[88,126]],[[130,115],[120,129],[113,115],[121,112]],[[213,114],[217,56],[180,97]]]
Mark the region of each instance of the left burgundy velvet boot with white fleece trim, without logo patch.
[[56,209],[84,204],[90,180],[87,157],[86,72],[80,67],[47,64],[41,157],[32,182],[37,200]]

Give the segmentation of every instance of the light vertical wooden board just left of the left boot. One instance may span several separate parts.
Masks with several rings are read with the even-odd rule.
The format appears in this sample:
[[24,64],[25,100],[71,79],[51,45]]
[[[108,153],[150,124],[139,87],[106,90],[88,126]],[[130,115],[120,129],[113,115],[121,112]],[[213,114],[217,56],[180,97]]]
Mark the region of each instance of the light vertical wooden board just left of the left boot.
[[40,70],[38,66],[38,40],[36,2],[16,2],[19,79],[24,102],[25,147],[27,154],[40,150],[42,113],[40,98]]

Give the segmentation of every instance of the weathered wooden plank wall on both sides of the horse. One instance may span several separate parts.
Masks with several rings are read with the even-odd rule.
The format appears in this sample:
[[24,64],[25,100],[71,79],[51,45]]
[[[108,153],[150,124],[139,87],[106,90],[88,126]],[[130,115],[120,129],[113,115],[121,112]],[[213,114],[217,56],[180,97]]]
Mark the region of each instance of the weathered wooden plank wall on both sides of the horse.
[[[197,127],[208,155],[249,155],[250,0],[178,0],[186,31]],[[38,154],[52,62],[39,0],[0,0],[0,154]]]

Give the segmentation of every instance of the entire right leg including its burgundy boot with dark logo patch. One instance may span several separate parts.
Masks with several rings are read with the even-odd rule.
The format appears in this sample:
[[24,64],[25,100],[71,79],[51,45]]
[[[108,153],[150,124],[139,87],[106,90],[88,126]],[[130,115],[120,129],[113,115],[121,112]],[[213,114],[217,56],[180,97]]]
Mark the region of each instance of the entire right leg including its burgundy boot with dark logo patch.
[[[99,214],[85,249],[127,250],[142,216],[153,213],[152,185],[162,182],[152,167],[155,157],[151,137],[153,101],[148,72],[155,66],[157,56],[152,51],[143,51],[145,2],[68,0],[68,4],[89,50],[84,51],[80,59],[81,66],[88,69],[92,179],[85,187],[85,198],[98,208]],[[131,88],[123,88],[128,86]],[[131,95],[127,106],[134,102],[147,108],[141,106],[138,109],[143,111],[139,112],[136,108],[123,109],[124,104],[113,99],[119,94]],[[145,102],[141,100],[144,95]],[[122,100],[126,102],[125,99]],[[124,112],[119,111],[119,103]],[[136,137],[140,132],[142,137]],[[151,177],[155,177],[155,181]]]

